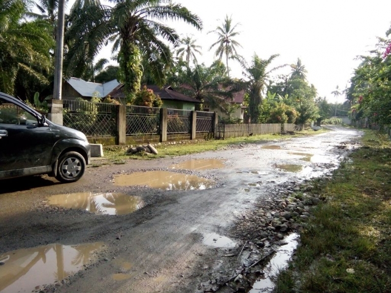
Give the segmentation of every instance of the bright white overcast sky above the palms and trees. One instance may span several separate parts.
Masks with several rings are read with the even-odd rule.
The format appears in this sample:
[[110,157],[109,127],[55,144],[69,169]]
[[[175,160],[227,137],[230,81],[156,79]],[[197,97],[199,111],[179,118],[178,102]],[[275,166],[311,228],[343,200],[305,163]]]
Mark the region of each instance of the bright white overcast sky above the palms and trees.
[[[168,21],[183,36],[197,39],[202,46],[198,61],[209,66],[214,59],[214,50],[208,51],[216,42],[213,34],[207,34],[222,24],[225,15],[239,23],[241,32],[235,38],[242,48],[238,53],[247,62],[256,53],[267,59],[280,54],[270,68],[292,64],[302,60],[307,80],[317,88],[318,96],[325,96],[335,103],[331,93],[338,85],[348,85],[354,68],[360,61],[355,57],[373,49],[376,37],[385,37],[391,25],[391,1],[386,0],[173,0],[197,14],[203,21],[203,30],[183,22]],[[107,57],[105,48],[99,57]],[[98,58],[99,58],[98,57]],[[240,65],[229,61],[231,75],[242,78]],[[277,74],[287,74],[285,68]],[[339,97],[338,102],[343,102]]]

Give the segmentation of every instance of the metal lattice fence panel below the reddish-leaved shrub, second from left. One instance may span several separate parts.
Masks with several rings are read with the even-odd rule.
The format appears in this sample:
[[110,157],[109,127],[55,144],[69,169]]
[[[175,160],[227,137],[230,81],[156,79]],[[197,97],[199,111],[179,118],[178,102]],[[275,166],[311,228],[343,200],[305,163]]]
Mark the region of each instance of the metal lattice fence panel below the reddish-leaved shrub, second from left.
[[126,136],[159,134],[160,108],[126,106]]

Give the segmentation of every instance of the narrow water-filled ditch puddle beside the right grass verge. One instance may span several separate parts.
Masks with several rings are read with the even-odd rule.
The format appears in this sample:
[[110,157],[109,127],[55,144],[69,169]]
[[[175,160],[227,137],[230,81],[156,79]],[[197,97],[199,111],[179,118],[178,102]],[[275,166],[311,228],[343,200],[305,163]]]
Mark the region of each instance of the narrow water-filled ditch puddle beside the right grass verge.
[[265,267],[265,275],[262,279],[254,283],[249,293],[271,292],[273,290],[274,283],[272,279],[287,267],[290,257],[299,244],[298,237],[299,235],[294,233],[284,239],[288,244],[280,246],[276,254],[270,259],[269,264]]

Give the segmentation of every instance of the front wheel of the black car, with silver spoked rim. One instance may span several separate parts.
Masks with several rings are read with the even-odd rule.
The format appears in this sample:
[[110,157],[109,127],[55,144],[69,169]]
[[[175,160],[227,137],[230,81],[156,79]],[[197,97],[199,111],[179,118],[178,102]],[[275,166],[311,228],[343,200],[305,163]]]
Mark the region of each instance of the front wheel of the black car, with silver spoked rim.
[[56,179],[64,183],[76,182],[83,176],[85,168],[85,159],[80,153],[64,153],[58,159]]

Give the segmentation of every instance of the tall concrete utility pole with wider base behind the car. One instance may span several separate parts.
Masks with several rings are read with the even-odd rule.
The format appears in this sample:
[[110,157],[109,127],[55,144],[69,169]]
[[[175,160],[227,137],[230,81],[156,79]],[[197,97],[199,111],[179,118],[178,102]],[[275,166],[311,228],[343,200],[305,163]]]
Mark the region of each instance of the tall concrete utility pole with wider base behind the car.
[[49,102],[48,118],[50,121],[62,125],[62,57],[64,52],[64,22],[65,0],[58,0],[57,11],[57,38],[54,53],[54,90],[53,99]]

